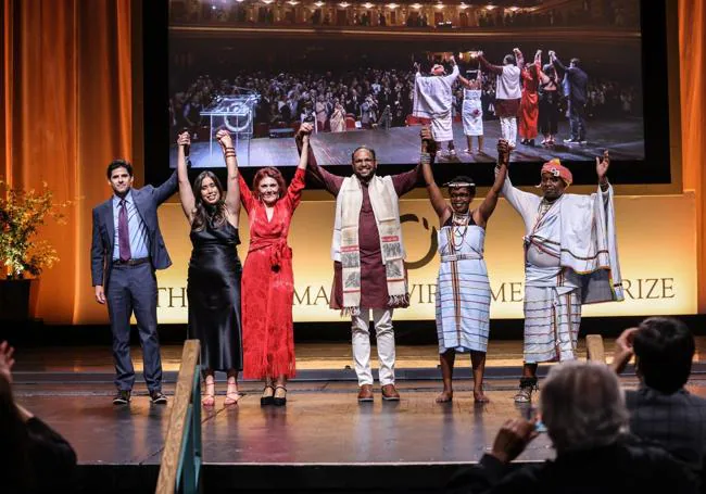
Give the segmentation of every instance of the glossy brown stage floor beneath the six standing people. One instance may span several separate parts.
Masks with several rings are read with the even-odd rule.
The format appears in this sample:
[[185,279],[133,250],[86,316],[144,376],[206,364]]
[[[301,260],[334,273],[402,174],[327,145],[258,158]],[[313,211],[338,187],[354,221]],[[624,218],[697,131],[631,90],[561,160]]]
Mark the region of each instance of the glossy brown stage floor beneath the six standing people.
[[[581,344],[579,356],[585,358]],[[612,349],[607,340],[608,359]],[[169,398],[180,350],[162,349]],[[698,337],[689,389],[702,396],[705,351],[706,337]],[[467,356],[456,360],[453,403],[434,403],[441,389],[434,345],[399,346],[399,403],[382,402],[377,384],[374,403],[356,402],[349,344],[302,343],[297,352],[300,372],[289,383],[283,408],[261,408],[262,383],[253,381],[241,383],[244,396],[237,406],[225,407],[224,376],[217,376],[216,406],[202,408],[204,492],[438,492],[459,465],[489,451],[506,419],[522,413],[512,400],[520,341],[491,341],[486,384],[491,402],[484,405],[472,402]],[[133,356],[140,369],[139,347]],[[153,492],[172,400],[151,405],[138,375],[131,404],[112,405],[109,347],[18,349],[16,358],[16,398],[72,443],[80,492]],[[544,375],[547,366],[540,370]],[[621,381],[626,388],[638,382],[631,370]],[[553,455],[541,434],[519,460]]]

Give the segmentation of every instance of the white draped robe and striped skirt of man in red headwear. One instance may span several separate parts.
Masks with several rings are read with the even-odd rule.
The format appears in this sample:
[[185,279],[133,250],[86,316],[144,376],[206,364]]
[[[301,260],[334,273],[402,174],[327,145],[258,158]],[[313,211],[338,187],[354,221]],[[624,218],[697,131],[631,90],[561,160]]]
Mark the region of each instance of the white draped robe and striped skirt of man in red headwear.
[[613,189],[550,205],[506,179],[503,195],[525,223],[525,362],[575,358],[581,304],[622,300]]

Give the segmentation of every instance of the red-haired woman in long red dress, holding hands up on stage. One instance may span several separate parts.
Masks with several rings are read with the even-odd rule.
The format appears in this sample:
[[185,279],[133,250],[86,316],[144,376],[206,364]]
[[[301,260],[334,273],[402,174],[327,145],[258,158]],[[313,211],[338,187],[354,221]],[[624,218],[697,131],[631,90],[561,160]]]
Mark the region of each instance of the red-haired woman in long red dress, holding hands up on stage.
[[[308,151],[308,137],[304,147]],[[292,305],[294,276],[287,235],[304,189],[308,152],[301,153],[288,188],[277,168],[255,174],[253,190],[240,178],[240,199],[250,218],[250,249],[242,270],[243,377],[265,379],[261,405],[287,403],[294,376]]]

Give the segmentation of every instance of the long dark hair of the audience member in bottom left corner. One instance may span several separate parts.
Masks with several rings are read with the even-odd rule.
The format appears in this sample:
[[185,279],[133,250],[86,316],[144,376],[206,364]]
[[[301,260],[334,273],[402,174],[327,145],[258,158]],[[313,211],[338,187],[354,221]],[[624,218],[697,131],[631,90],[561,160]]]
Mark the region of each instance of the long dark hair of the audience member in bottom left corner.
[[[0,476],[8,492],[26,492],[33,486],[27,428],[12,395],[10,381],[0,375]],[[4,492],[4,490],[3,490]]]

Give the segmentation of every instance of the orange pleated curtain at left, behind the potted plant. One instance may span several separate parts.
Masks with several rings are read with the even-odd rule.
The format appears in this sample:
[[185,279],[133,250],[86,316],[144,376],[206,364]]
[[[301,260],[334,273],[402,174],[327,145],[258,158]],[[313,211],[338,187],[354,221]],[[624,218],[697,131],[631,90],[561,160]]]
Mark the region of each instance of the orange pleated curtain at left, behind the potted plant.
[[3,3],[3,175],[80,198],[67,225],[41,232],[61,258],[41,276],[47,322],[106,320],[90,287],[91,208],[109,197],[108,163],[133,159],[130,15],[129,0]]

